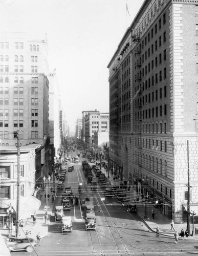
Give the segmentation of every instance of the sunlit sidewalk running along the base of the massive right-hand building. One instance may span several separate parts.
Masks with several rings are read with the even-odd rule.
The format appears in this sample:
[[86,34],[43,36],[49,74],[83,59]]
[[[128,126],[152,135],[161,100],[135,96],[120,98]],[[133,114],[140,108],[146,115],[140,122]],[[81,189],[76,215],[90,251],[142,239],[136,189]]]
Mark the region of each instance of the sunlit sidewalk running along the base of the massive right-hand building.
[[[105,176],[108,176],[108,173],[102,167],[101,171],[105,174]],[[120,185],[120,180],[114,181],[114,176],[109,172],[109,178],[107,180],[112,185]],[[137,193],[137,191],[134,188],[130,188],[129,193],[127,193],[127,197],[131,198],[132,200],[136,200],[137,197],[139,197],[139,203],[137,203],[137,214],[141,217],[144,224],[148,227],[149,231],[156,232],[156,228],[159,226],[160,234],[163,236],[168,237],[174,237],[174,230],[170,230],[170,222],[171,220],[168,219],[165,215],[162,214],[160,210],[155,208],[152,204],[147,203],[146,204],[146,213],[147,213],[147,219],[145,219],[145,203],[140,198],[140,195]],[[151,210],[155,209],[156,215],[155,219],[152,219]],[[191,224],[192,225],[192,224]],[[174,229],[178,231],[180,234],[181,230],[183,229],[184,232],[186,230],[187,223],[181,223],[181,224],[174,224]],[[194,227],[195,229],[195,227]],[[191,226],[191,232],[192,232],[192,226]],[[193,235],[193,237],[189,236],[188,239],[194,239],[198,240],[198,236]]]

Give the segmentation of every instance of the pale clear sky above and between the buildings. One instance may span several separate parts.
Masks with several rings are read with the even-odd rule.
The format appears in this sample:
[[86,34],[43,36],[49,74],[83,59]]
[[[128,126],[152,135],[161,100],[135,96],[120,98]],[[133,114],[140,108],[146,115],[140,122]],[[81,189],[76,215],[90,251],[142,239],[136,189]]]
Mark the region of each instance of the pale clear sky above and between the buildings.
[[50,72],[56,69],[71,132],[82,111],[109,112],[107,65],[143,2],[0,0],[0,31],[40,40],[47,34]]

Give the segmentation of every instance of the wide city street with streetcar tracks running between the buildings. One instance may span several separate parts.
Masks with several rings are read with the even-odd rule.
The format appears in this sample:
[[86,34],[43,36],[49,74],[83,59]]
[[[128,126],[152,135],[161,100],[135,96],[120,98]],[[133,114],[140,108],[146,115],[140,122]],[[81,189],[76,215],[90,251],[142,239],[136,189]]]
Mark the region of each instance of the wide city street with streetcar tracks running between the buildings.
[[[72,153],[75,154],[75,153]],[[82,159],[81,159],[82,160]],[[67,165],[68,168],[68,165]],[[73,172],[67,172],[65,186],[71,186],[76,197],[79,183],[86,182],[81,168],[81,162],[74,165]],[[138,214],[127,212],[117,198],[105,198],[98,185],[97,191],[92,191],[87,185],[87,191],[94,196],[96,230],[85,230],[84,215],[80,205],[64,211],[65,216],[71,216],[73,232],[61,232],[61,222],[55,222],[52,214],[48,236],[41,239],[40,246],[35,247],[37,255],[186,255],[188,251],[196,250],[196,241],[179,240],[174,243],[172,237],[157,238],[144,225]],[[55,206],[61,205],[62,190],[56,194]],[[35,252],[13,252],[13,255],[36,255]]]

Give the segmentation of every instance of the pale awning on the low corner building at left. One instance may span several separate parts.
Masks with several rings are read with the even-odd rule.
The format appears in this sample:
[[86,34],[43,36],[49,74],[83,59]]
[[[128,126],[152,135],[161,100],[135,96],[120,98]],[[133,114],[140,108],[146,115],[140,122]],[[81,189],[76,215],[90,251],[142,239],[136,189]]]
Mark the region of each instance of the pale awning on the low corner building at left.
[[[16,201],[12,204],[12,206],[16,210]],[[31,218],[31,215],[35,214],[39,207],[40,200],[37,198],[33,196],[28,198],[20,197],[18,220]]]

